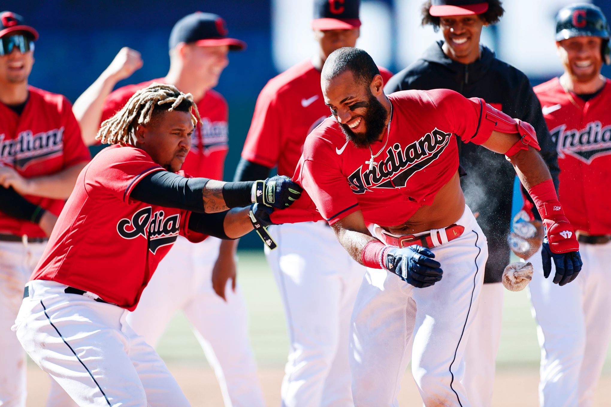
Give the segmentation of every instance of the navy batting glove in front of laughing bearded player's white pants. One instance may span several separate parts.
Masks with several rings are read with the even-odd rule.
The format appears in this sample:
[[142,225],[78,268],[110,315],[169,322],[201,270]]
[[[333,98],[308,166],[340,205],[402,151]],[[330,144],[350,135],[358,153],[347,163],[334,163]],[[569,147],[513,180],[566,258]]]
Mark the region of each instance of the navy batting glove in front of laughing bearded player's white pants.
[[419,245],[392,248],[385,256],[386,268],[417,288],[432,286],[444,273],[441,264],[433,260],[435,254]]

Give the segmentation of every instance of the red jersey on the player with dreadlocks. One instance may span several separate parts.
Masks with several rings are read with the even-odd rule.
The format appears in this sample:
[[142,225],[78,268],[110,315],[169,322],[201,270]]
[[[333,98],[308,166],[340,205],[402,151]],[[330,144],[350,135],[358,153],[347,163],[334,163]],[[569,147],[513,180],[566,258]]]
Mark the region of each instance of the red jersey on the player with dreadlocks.
[[191,242],[191,212],[130,198],[137,183],[165,171],[139,148],[113,145],[81,171],[31,279],[53,280],[133,311],[178,235]]

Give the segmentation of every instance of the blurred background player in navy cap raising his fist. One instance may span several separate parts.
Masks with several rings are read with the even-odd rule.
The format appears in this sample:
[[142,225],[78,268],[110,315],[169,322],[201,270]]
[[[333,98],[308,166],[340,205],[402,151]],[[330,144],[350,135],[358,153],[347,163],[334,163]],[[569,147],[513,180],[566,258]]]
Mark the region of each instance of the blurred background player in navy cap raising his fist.
[[[111,65],[75,102],[75,114],[88,135],[100,120],[106,120],[125,106],[139,89],[153,82],[175,85],[193,95],[202,123],[192,133],[191,149],[182,169],[191,176],[223,178],[228,145],[227,102],[212,90],[229,63],[229,51],[246,44],[227,37],[224,20],[211,13],[192,13],[179,20],[170,33],[170,70],[163,78],[128,85],[110,93],[119,79],[142,65],[139,53],[123,48]],[[89,137],[93,140],[93,137]],[[265,178],[265,177],[264,177]],[[230,244],[227,244],[230,243]],[[246,301],[235,281],[235,248],[230,240],[209,237],[193,244],[179,236],[163,262],[138,308],[128,323],[153,347],[176,312],[182,309],[196,330],[196,337],[221,387],[227,407],[263,406],[263,392],[249,344]],[[229,276],[218,297],[211,284],[213,273]],[[224,282],[227,283],[228,277]],[[57,389],[58,386],[54,386]],[[59,389],[61,390],[61,389]],[[65,394],[51,392],[54,406],[65,406]]]

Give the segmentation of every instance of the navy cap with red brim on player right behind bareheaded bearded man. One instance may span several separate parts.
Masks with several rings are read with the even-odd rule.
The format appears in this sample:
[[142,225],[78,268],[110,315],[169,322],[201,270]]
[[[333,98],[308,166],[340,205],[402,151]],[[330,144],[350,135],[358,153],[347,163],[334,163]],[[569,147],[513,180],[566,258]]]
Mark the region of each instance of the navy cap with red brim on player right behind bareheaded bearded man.
[[320,31],[360,27],[360,0],[315,0],[312,28]]

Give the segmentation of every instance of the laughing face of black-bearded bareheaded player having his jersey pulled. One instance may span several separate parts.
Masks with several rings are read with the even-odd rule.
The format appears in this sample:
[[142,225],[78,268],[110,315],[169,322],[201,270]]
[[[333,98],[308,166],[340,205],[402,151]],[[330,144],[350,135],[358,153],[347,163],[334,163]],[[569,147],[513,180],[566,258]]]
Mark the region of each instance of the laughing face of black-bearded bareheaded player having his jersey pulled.
[[378,141],[386,128],[388,111],[380,101],[386,98],[382,82],[382,77],[376,75],[370,85],[365,85],[349,70],[323,79],[324,103],[340,124],[346,140],[358,148]]

